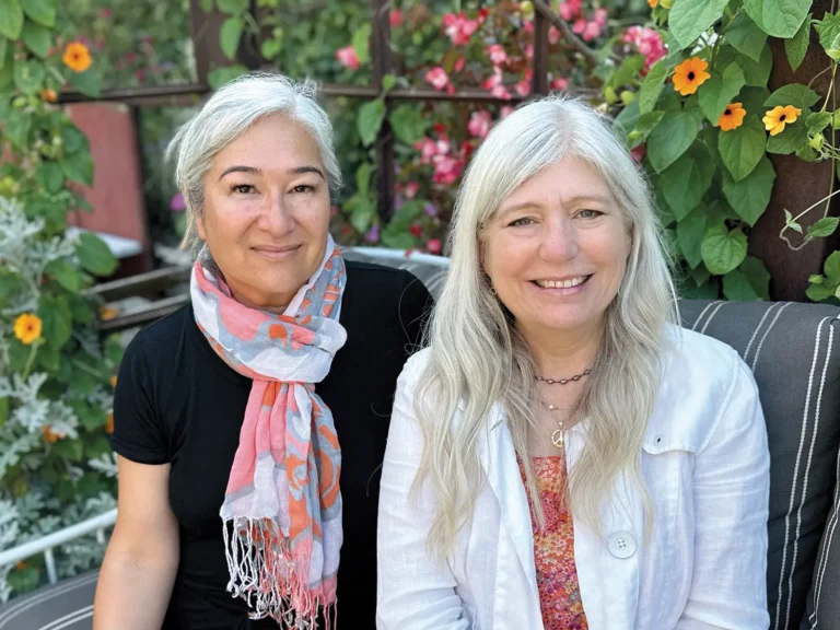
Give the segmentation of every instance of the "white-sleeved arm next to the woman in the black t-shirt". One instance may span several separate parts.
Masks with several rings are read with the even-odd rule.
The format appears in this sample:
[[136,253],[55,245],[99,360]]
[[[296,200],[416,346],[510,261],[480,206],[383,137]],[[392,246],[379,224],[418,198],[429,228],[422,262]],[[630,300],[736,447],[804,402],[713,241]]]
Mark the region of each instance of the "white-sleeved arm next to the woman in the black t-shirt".
[[435,514],[431,488],[409,497],[423,448],[412,405],[420,362],[415,357],[397,381],[382,469],[377,532],[378,630],[467,630],[455,579],[427,552]]

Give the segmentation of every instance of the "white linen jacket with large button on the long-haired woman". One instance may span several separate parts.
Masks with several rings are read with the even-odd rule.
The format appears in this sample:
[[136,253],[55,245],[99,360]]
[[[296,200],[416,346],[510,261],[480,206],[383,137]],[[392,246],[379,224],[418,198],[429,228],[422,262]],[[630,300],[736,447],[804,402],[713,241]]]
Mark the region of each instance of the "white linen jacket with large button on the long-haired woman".
[[[655,518],[623,477],[600,509],[602,532],[574,524],[574,557],[591,630],[765,630],[770,456],[752,374],[712,338],[669,329],[664,377],[641,453]],[[534,539],[504,411],[480,438],[486,474],[471,521],[445,565],[427,551],[430,487],[409,491],[423,438],[413,411],[429,360],[399,377],[382,474],[378,630],[542,630]],[[457,421],[457,415],[455,418]],[[568,465],[585,423],[567,435]]]

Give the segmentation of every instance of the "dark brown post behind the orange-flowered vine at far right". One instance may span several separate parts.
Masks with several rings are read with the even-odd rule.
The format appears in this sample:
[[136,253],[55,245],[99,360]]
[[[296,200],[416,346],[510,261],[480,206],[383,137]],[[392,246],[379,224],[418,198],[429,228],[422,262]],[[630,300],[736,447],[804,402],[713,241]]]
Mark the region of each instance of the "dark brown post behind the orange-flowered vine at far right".
[[[814,0],[814,18],[821,19],[830,11],[830,0]],[[770,75],[770,90],[777,90],[788,83],[807,84],[814,77],[829,66],[822,47],[814,31],[810,33],[810,45],[805,60],[796,72],[791,70],[784,51],[784,42],[771,39],[773,51],[773,70]],[[820,75],[812,88],[825,96],[828,91],[830,73]],[[840,105],[840,100],[838,100]],[[827,131],[827,138],[830,129]],[[838,133],[840,140],[840,133]],[[817,238],[798,252],[794,252],[779,237],[784,226],[784,210],[790,210],[795,217],[812,203],[816,203],[829,194],[831,182],[835,179],[833,163],[803,162],[796,155],[770,155],[775,168],[775,185],[770,199],[770,206],[756,223],[750,235],[749,253],[763,260],[770,271],[770,298],[794,302],[807,302],[805,291],[808,288],[808,277],[822,271],[825,259],[838,248],[840,234],[828,238]],[[835,188],[837,189],[837,188]],[[830,214],[840,213],[840,202],[831,200]],[[825,206],[812,210],[801,221],[803,228],[810,225],[822,217]],[[796,244],[798,234],[790,232],[791,241]]]

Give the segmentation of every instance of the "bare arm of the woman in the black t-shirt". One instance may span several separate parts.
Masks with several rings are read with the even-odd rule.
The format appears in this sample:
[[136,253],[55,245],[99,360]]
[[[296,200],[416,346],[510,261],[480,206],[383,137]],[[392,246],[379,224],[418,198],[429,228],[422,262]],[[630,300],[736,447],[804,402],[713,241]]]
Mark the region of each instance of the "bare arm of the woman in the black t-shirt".
[[119,457],[117,523],[100,572],[94,630],[160,630],[178,569],[170,465]]

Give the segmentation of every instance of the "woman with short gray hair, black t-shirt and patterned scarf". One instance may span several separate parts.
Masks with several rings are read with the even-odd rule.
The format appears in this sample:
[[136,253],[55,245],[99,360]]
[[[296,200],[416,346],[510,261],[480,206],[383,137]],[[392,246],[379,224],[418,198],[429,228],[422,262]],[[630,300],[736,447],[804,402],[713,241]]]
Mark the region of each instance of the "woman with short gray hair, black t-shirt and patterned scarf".
[[[373,629],[390,396],[429,293],[343,260],[314,86],[252,74],[173,141],[190,303],[135,337],[94,628]],[[347,540],[348,545],[342,545]]]

